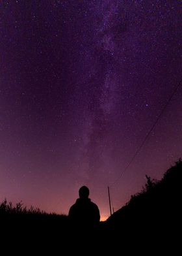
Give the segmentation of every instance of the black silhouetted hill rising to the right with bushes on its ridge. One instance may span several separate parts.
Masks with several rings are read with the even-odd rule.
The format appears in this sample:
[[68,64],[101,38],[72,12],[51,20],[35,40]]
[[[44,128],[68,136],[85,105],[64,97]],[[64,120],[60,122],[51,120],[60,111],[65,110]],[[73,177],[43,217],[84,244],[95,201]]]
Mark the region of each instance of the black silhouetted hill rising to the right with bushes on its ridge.
[[179,238],[182,216],[181,159],[166,171],[160,181],[146,178],[142,191],[133,195],[125,206],[107,219],[106,227],[112,234],[112,241],[129,239],[140,244],[140,241],[144,243],[148,240],[155,244],[164,239],[169,245]]

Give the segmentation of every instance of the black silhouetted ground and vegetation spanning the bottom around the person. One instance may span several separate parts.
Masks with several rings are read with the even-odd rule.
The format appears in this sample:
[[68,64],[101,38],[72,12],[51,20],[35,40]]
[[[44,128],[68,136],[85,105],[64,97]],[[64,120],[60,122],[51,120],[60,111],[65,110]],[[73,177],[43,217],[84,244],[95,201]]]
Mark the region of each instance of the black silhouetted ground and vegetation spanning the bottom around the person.
[[0,204],[1,234],[7,241],[18,239],[29,247],[31,244],[30,248],[64,248],[68,255],[80,246],[91,251],[97,247],[105,253],[121,248],[128,252],[138,248],[141,252],[144,246],[150,251],[159,246],[163,252],[175,250],[181,237],[181,176],[181,160],[160,181],[146,176],[142,191],[92,231],[71,227],[67,216],[27,209],[21,202],[13,206],[4,200]]

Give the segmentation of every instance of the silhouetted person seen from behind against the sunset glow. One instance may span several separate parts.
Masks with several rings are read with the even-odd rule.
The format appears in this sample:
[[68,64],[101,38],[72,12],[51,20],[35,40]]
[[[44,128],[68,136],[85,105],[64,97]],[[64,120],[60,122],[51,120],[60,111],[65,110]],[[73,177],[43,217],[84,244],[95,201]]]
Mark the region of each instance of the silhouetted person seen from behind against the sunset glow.
[[96,227],[100,220],[99,208],[89,198],[89,189],[83,186],[79,189],[79,199],[69,211],[69,219],[79,227]]

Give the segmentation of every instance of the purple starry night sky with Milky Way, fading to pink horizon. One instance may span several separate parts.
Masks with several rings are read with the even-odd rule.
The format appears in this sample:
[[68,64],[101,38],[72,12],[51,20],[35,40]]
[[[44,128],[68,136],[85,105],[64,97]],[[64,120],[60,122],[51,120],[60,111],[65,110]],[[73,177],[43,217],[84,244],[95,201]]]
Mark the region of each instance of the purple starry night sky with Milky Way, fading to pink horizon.
[[182,156],[182,1],[0,0],[0,200],[101,219]]

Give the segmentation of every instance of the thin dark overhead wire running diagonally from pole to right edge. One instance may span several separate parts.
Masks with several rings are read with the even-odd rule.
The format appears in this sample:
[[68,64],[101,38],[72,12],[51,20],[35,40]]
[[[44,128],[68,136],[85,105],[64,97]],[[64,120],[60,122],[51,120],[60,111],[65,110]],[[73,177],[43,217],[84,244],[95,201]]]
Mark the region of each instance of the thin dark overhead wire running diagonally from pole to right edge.
[[162,108],[161,113],[159,114],[159,116],[157,117],[157,120],[155,120],[155,123],[153,123],[151,129],[149,129],[147,135],[145,136],[144,140],[142,141],[142,143],[140,144],[138,150],[136,150],[135,154],[133,155],[133,157],[131,158],[131,160],[129,161],[128,165],[124,168],[123,172],[120,174],[120,176],[115,180],[115,182],[113,182],[110,187],[112,187],[114,184],[116,184],[118,182],[118,180],[120,180],[120,178],[122,178],[123,174],[126,172],[126,170],[129,168],[129,166],[131,165],[131,163],[133,162],[133,160],[135,159],[136,155],[138,155],[138,153],[140,152],[142,146],[144,146],[146,140],[148,139],[151,131],[153,131],[155,125],[157,125],[157,122],[159,121],[159,119],[161,118],[162,114],[164,113],[164,111],[166,110],[166,107],[168,106],[168,104],[170,103],[170,101],[172,100],[172,97],[174,97],[177,89],[179,88],[179,86],[181,86],[181,82],[182,80],[179,81],[179,83],[177,84],[177,86],[175,87],[172,95],[170,96],[170,98],[168,99],[167,103],[164,105],[164,108]]

